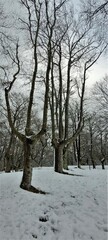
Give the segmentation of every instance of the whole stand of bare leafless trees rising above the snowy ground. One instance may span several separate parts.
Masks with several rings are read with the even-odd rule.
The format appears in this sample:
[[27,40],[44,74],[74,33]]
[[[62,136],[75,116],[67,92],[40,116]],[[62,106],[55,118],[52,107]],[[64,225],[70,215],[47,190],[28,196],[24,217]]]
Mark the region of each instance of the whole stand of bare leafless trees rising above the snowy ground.
[[33,167],[108,164],[108,73],[87,86],[107,26],[107,0],[0,4],[0,171],[22,170],[22,189],[38,191]]

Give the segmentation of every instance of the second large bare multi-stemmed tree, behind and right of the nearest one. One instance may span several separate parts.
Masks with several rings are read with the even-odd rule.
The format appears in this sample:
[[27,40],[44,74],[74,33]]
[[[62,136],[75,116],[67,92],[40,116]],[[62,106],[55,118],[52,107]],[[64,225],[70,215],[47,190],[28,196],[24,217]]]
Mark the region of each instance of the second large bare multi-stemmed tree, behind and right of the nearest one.
[[[95,34],[89,25],[81,30],[80,25],[76,23],[72,16],[71,22],[67,21],[66,16],[64,19],[68,25],[68,31],[65,33],[65,37],[58,42],[51,68],[52,145],[55,151],[55,171],[60,173],[63,172],[63,167],[67,168],[67,150],[76,140],[83,127],[83,103],[87,72],[106,48],[102,41],[96,42]],[[74,74],[72,72],[77,71],[79,67],[82,72],[79,120],[75,132],[71,135],[69,132],[69,107],[74,89],[72,87],[74,86]]]

